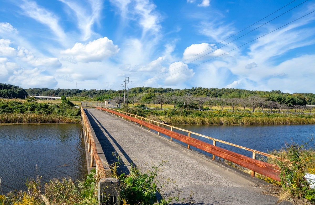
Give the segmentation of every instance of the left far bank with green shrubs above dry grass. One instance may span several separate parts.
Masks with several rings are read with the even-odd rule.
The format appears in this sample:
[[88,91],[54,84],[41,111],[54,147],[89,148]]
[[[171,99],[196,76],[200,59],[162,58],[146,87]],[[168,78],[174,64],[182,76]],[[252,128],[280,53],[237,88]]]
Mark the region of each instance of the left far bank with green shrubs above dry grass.
[[79,123],[80,109],[60,103],[0,100],[0,123]]

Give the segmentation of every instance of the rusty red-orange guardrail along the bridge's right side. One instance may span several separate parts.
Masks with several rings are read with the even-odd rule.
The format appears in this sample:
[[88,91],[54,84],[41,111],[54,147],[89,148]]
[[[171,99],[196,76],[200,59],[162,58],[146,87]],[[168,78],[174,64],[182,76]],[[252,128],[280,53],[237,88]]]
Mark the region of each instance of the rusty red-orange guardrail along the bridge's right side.
[[[219,139],[211,138],[211,137],[208,137],[206,135],[202,135],[202,134],[199,134],[196,132],[191,132],[191,131],[188,131],[185,129],[170,126],[170,125],[167,125],[167,124],[164,124],[161,122],[150,120],[150,119],[147,119],[147,118],[135,115],[135,114],[126,113],[126,112],[123,112],[120,110],[115,110],[112,108],[104,108],[104,107],[96,107],[96,109],[103,110],[103,111],[112,113],[114,115],[120,116],[122,118],[125,118],[126,120],[129,120],[130,122],[131,121],[135,122],[135,124],[138,123],[141,127],[146,126],[148,128],[148,130],[153,129],[153,130],[157,131],[158,135],[160,133],[163,133],[163,134],[169,136],[170,140],[173,140],[173,138],[175,138],[181,142],[186,143],[188,149],[190,148],[190,146],[193,146],[193,147],[196,147],[196,148],[201,149],[203,151],[206,151],[206,152],[213,155],[213,157],[212,157],[213,160],[215,160],[215,156],[218,156],[218,157],[221,157],[221,158],[226,159],[228,161],[231,161],[235,164],[238,164],[242,167],[248,168],[252,171],[251,172],[252,177],[255,177],[255,172],[257,172],[257,173],[260,173],[260,174],[265,175],[267,177],[270,177],[271,179],[281,181],[279,167],[276,165],[264,162],[264,161],[257,160],[256,154],[267,156],[267,157],[272,157],[272,158],[277,158],[277,159],[281,159],[280,157],[270,155],[268,153],[260,152],[260,151],[254,150],[254,149],[249,149],[249,148],[239,146],[239,145],[236,145],[233,143],[228,143],[228,142],[225,142],[225,141],[222,141]],[[153,123],[155,123],[155,124],[153,124]],[[170,130],[163,128],[163,127],[160,127],[161,125],[169,126]],[[173,129],[187,132],[188,135],[186,136],[186,135],[180,134],[178,132],[174,132]],[[209,144],[209,143],[203,142],[201,140],[198,140],[196,138],[192,138],[191,134],[195,134],[195,135],[198,135],[200,137],[204,137],[204,138],[213,140],[213,144]],[[244,156],[244,155],[238,154],[236,152],[232,152],[230,150],[218,147],[218,146],[216,146],[216,142],[228,144],[228,145],[231,145],[234,147],[238,147],[240,149],[245,149],[245,150],[251,151],[253,153],[253,155],[252,155],[253,157],[250,158],[248,156]]]

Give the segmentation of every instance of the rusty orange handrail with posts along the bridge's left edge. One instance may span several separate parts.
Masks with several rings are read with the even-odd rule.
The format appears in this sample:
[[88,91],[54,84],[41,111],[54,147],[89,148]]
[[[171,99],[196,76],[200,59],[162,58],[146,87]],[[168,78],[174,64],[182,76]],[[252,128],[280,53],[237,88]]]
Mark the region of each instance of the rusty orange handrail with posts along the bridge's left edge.
[[91,152],[90,167],[94,167],[94,161],[95,161],[96,176],[99,177],[100,179],[105,178],[106,174],[105,174],[104,166],[97,153],[94,136],[92,134],[90,123],[89,123],[89,118],[87,117],[82,106],[81,106],[81,116],[82,116],[82,122],[83,122],[83,130],[86,136],[86,142],[89,143],[87,152]]

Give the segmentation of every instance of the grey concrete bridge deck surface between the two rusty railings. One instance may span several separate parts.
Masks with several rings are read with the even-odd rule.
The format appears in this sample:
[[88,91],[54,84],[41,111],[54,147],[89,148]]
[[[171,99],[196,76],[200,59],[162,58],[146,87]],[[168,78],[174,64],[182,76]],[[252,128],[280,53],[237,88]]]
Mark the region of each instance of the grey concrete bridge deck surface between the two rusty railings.
[[131,164],[146,172],[152,164],[166,161],[158,179],[176,181],[164,188],[166,194],[175,191],[177,185],[180,198],[189,198],[192,194],[193,204],[291,204],[278,202],[277,197],[263,194],[270,186],[260,179],[212,161],[112,114],[96,109],[84,110],[97,136],[95,143],[100,158],[112,164],[117,161],[112,153],[117,153],[125,164],[119,172],[128,173]]

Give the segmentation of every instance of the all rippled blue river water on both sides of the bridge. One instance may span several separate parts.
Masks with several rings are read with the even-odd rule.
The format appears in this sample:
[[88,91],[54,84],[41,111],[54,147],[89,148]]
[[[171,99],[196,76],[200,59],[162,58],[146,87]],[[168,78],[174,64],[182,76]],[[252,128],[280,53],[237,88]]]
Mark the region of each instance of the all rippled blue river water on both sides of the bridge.
[[[315,125],[176,126],[262,152],[281,149],[285,147],[285,142],[299,144],[308,142],[315,133]],[[212,140],[197,135],[191,137],[213,143]],[[26,179],[36,178],[37,175],[42,176],[47,182],[53,178],[61,179],[67,176],[72,179],[84,179],[87,174],[81,124],[0,126],[0,144],[0,177],[2,178],[0,194],[14,189],[26,190]],[[308,144],[315,146],[314,141]],[[251,152],[243,149],[218,142],[216,145],[252,156]],[[195,148],[191,146],[191,149]]]

